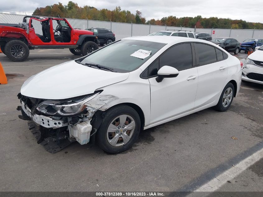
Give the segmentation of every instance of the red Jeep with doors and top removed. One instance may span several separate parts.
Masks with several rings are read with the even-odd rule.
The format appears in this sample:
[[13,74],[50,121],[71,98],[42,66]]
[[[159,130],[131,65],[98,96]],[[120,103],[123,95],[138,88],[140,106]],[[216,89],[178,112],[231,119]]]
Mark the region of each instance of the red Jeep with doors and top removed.
[[99,44],[93,32],[73,29],[65,18],[25,16],[19,24],[0,23],[1,50],[16,62],[27,59],[31,49],[68,48],[84,56],[97,50]]

